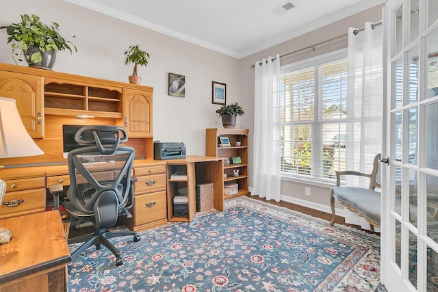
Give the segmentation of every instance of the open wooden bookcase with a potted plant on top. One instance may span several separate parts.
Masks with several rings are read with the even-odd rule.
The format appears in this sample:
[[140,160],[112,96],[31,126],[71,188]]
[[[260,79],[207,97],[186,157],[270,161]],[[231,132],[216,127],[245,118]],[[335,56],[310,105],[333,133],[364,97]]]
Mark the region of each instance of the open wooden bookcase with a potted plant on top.
[[[220,146],[220,137],[227,137],[231,146]],[[235,146],[240,142],[240,146]],[[236,196],[246,196],[248,191],[248,129],[206,129],[205,154],[215,157],[228,157],[230,164],[224,165],[224,183],[237,183],[237,194],[227,195],[224,191],[224,199]],[[240,157],[233,161],[233,157]],[[235,163],[238,162],[238,163]],[[233,176],[234,170],[238,170],[238,176]]]

